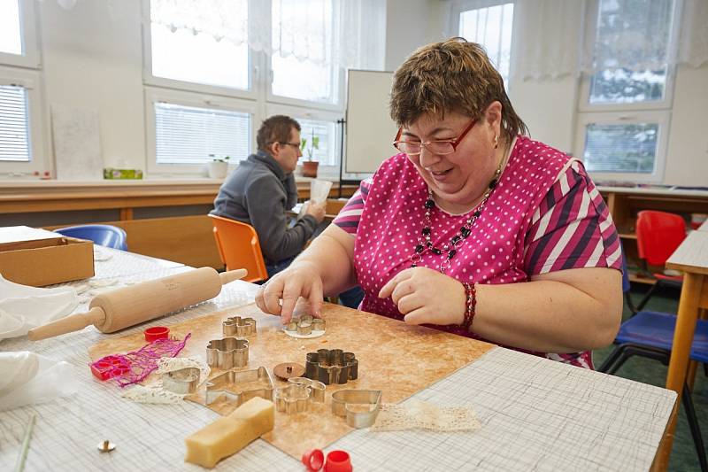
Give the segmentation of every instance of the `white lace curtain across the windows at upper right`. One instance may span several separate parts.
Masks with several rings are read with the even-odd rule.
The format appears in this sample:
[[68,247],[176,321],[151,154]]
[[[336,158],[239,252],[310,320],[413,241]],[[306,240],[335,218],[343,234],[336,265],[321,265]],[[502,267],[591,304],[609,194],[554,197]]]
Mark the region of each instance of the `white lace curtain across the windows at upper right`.
[[[466,0],[467,8],[514,3],[516,58],[523,80],[581,72],[708,64],[708,0]],[[452,2],[457,4],[460,2]],[[479,6],[475,6],[479,4]],[[602,6],[602,9],[600,9]],[[451,10],[451,12],[453,12]],[[454,13],[453,13],[454,14]],[[673,15],[679,15],[674,22]],[[597,19],[602,40],[596,47]],[[450,25],[455,27],[455,19]],[[456,27],[455,27],[456,28]],[[457,35],[457,29],[450,29]],[[673,35],[673,36],[672,36]]]

